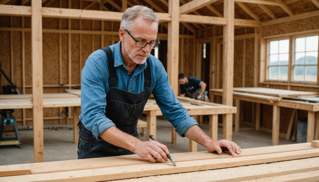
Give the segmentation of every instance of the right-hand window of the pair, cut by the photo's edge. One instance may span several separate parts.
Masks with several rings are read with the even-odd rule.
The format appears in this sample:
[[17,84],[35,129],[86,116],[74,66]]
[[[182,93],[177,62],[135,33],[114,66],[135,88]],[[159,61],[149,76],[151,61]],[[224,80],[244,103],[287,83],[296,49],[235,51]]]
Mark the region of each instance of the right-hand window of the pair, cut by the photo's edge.
[[295,39],[293,81],[317,82],[318,36]]

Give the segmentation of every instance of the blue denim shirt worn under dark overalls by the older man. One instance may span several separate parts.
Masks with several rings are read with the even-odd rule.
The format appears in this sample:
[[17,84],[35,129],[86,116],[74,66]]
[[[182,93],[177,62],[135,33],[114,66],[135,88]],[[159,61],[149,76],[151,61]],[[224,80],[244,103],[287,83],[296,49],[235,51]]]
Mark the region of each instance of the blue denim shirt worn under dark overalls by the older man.
[[[144,69],[147,62],[140,64],[135,69],[133,75],[125,66],[121,55],[121,41],[110,46],[114,57],[114,67],[118,83],[116,88],[139,93],[145,90]],[[174,91],[168,82],[167,73],[162,63],[153,55],[149,56],[152,86],[150,94],[158,104],[163,116],[168,120],[175,131],[184,136],[184,133],[192,126],[197,125],[194,118],[189,117],[188,112],[175,97]],[[81,73],[81,110],[79,119],[84,127],[92,131],[97,140],[102,140],[99,135],[115,124],[108,119],[105,114],[106,94],[110,90],[108,82],[108,59],[103,50],[94,51],[86,60]]]

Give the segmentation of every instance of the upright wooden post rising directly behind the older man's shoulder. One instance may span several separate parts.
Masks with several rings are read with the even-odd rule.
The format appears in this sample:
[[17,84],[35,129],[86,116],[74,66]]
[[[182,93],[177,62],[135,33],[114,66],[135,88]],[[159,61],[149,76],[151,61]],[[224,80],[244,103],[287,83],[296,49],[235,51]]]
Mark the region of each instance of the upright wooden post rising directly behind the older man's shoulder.
[[178,92],[178,51],[179,51],[179,0],[168,2],[168,13],[172,14],[172,21],[168,22],[167,39],[167,74],[169,83],[177,95]]

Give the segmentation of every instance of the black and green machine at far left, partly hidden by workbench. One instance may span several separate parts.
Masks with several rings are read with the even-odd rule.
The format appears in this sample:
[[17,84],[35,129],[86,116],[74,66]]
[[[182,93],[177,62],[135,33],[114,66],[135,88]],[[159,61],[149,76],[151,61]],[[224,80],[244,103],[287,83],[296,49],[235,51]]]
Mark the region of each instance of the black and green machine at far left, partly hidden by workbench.
[[[11,82],[11,80],[8,78],[8,76],[1,69],[1,62],[0,62],[0,72],[10,84],[10,85],[5,85],[2,87],[3,94],[6,94],[6,95],[20,94],[18,89],[17,89],[17,86]],[[0,80],[1,80],[1,74],[0,74]],[[16,118],[14,117],[13,113],[14,113],[14,109],[1,109],[0,110],[0,114],[1,114],[0,146],[2,146],[2,145],[19,145],[20,149],[22,149],[22,143],[20,142],[18,126],[17,126]],[[14,130],[4,131],[4,126],[13,126]],[[3,136],[3,133],[5,133],[5,132],[15,132],[16,138],[3,139],[2,136]]]

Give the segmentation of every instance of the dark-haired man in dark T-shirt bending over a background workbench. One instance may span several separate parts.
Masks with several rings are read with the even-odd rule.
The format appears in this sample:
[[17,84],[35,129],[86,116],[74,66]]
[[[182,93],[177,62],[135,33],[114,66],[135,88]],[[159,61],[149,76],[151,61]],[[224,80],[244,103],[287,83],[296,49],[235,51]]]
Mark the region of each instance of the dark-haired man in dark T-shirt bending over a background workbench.
[[207,91],[205,90],[206,84],[203,81],[195,77],[187,78],[184,73],[178,74],[178,81],[180,83],[181,97],[209,102]]

